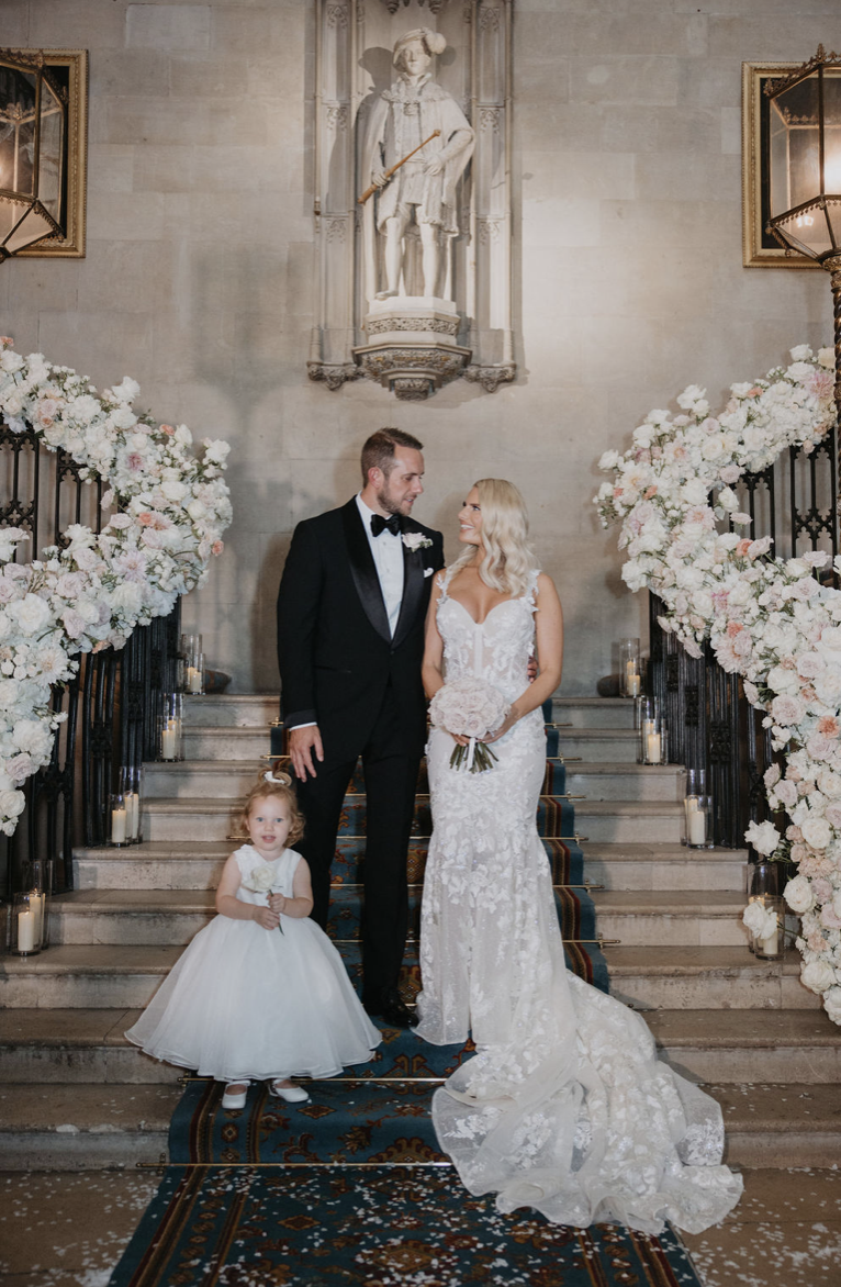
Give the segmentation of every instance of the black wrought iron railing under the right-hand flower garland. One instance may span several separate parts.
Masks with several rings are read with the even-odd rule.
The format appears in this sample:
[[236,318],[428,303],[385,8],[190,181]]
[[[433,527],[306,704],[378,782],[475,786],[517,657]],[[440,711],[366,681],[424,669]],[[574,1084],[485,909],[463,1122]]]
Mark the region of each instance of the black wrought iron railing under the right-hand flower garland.
[[[766,470],[743,476],[737,490],[754,520],[751,533],[772,537],[781,557],[838,553],[835,431],[809,456],[791,448]],[[667,721],[670,759],[706,768],[715,843],[739,848],[747,824],[768,816],[763,776],[774,761],[770,734],[738,676],[719,665],[709,644],[701,658],[691,658],[658,624],[662,611],[651,595],[647,685]]]

